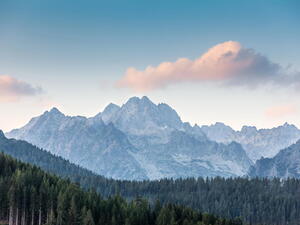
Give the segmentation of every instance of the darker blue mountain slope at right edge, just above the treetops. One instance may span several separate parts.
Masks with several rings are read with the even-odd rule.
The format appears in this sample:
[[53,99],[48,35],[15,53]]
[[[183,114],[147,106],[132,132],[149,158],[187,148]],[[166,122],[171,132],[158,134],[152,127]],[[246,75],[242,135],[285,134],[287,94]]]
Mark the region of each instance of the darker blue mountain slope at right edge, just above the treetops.
[[262,158],[250,168],[252,177],[300,178],[300,140],[273,158]]

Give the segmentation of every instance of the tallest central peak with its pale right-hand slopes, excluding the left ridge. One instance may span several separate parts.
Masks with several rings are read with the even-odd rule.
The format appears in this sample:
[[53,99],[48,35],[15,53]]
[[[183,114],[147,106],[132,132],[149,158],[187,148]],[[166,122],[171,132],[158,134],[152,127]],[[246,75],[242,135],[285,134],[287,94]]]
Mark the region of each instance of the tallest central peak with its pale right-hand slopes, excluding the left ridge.
[[[107,111],[112,109],[108,118]],[[132,155],[150,179],[239,176],[252,164],[239,144],[208,140],[199,126],[183,123],[170,106],[156,105],[145,96],[133,97],[121,107],[109,105],[102,115],[103,121],[126,133],[139,149]]]

